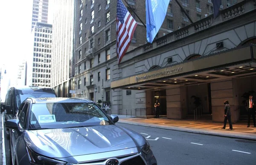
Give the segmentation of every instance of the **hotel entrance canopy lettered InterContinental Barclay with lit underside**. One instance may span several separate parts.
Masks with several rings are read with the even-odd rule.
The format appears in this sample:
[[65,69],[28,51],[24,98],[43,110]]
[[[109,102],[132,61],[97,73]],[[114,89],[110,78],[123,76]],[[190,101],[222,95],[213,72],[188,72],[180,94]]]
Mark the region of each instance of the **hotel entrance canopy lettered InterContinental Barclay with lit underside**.
[[199,57],[111,82],[112,89],[154,90],[256,74],[256,46],[244,46]]

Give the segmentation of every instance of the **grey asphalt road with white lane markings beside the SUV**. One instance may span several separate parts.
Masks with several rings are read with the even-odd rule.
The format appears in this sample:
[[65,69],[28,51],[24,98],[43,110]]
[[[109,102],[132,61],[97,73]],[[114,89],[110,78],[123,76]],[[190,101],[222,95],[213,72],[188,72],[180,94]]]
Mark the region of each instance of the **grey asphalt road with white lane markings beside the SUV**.
[[256,165],[256,141],[117,122],[142,134],[157,165]]

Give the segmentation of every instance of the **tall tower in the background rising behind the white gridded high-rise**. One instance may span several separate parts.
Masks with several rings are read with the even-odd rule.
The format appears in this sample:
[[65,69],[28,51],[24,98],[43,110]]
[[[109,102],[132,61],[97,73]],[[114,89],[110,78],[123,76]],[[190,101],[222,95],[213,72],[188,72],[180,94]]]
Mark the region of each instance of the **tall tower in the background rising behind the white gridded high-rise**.
[[32,13],[32,28],[35,23],[47,23],[48,21],[48,5],[49,0],[33,0],[33,13]]

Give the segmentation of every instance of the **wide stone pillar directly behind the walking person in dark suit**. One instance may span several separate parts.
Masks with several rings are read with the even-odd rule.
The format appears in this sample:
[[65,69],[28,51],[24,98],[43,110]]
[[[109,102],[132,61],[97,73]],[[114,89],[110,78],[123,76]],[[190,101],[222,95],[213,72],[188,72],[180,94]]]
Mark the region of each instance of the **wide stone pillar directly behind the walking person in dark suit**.
[[236,94],[236,80],[222,80],[211,83],[211,96],[212,96],[212,121],[223,122],[224,121],[224,101],[228,100],[230,103],[230,109],[232,113],[232,122],[238,121],[237,109],[238,98]]

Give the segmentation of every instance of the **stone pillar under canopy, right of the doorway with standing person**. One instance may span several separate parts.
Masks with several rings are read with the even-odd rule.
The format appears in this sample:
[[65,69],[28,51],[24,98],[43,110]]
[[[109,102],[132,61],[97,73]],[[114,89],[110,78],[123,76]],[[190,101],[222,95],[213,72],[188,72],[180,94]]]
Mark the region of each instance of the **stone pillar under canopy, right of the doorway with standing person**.
[[182,106],[180,101],[180,87],[166,89],[166,114],[168,119],[182,119]]

